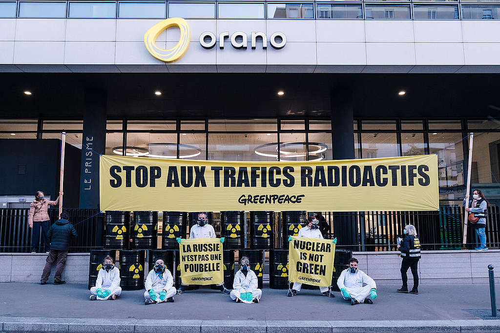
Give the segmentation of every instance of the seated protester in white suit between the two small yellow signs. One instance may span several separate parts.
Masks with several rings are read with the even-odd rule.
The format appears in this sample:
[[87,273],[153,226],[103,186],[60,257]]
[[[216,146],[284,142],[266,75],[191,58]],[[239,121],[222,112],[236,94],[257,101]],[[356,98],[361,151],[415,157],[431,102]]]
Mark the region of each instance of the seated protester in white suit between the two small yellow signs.
[[262,291],[258,289],[257,276],[249,265],[250,260],[247,257],[241,258],[239,271],[234,274],[234,289],[231,290],[230,296],[236,303],[258,303],[262,296]]

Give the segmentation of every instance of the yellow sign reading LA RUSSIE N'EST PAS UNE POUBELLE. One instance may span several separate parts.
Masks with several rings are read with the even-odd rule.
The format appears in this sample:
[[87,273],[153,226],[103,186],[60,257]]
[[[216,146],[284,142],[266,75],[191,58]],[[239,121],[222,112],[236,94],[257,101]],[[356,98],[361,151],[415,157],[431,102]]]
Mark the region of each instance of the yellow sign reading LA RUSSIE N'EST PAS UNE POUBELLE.
[[224,281],[219,238],[182,240],[179,250],[180,277],[184,285],[213,285]]

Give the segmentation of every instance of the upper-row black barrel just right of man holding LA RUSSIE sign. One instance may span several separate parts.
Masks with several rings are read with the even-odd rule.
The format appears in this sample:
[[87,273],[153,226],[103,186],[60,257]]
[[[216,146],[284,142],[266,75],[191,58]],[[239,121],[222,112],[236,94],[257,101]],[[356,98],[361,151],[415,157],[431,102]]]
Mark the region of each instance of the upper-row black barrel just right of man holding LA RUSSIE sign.
[[244,248],[244,223],[243,211],[220,212],[220,234],[225,237],[225,249]]

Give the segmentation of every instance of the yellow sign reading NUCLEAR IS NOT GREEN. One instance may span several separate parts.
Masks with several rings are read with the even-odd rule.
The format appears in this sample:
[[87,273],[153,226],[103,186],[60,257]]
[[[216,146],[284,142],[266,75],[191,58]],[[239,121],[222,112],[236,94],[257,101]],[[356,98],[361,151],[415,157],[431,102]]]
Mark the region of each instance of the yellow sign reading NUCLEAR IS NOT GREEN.
[[290,282],[328,287],[333,274],[335,244],[331,239],[292,236],[288,242]]

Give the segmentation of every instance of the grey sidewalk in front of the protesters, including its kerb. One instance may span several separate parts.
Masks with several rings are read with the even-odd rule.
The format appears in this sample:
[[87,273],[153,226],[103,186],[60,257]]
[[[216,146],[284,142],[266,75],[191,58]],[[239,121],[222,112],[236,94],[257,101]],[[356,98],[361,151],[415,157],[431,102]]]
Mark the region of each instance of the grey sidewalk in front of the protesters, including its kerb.
[[173,304],[145,306],[143,291],[92,302],[85,285],[0,283],[0,323],[3,331],[360,332],[363,326],[361,331],[372,332],[500,332],[499,320],[467,311],[487,313],[487,285],[422,285],[419,295],[398,294],[398,287],[379,285],[373,305],[350,306],[339,293],[332,299],[309,290],[288,298],[286,291],[268,288],[260,304],[245,305],[202,288],[176,296]]

